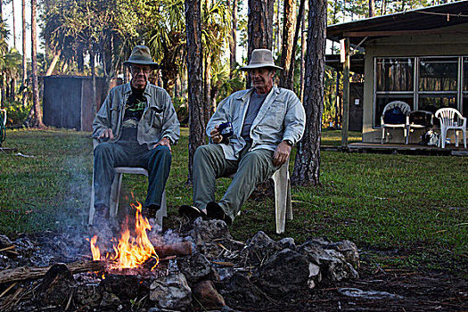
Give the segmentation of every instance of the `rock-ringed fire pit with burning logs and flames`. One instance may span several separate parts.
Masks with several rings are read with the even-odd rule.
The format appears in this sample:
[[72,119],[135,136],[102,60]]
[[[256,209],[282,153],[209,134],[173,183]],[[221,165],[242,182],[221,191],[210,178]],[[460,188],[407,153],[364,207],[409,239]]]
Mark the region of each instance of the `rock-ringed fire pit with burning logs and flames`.
[[[226,223],[198,218],[186,231],[159,233],[132,205],[119,239],[108,229],[0,237],[2,311],[160,311],[275,306],[323,280],[357,278],[352,242],[296,245],[259,232],[235,241]],[[129,226],[129,225],[132,226]],[[80,242],[77,242],[80,241]],[[110,247],[111,245],[111,247]]]

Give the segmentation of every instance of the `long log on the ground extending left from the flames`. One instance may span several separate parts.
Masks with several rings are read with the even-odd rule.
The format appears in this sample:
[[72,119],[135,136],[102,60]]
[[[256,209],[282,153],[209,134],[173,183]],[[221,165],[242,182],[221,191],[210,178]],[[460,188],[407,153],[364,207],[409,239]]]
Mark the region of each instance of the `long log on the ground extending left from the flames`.
[[[103,271],[105,269],[104,261],[78,261],[66,264],[72,274]],[[11,283],[27,279],[37,279],[44,277],[49,267],[17,267],[0,271],[0,283]]]

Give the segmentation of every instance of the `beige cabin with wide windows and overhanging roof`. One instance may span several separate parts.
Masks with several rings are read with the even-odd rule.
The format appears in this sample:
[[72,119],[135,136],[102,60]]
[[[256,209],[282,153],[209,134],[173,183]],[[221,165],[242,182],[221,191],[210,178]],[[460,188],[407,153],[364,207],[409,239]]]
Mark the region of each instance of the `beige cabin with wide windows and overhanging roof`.
[[[363,143],[381,143],[382,111],[392,101],[411,111],[452,107],[468,117],[468,1],[335,24],[326,36],[345,45],[351,71],[364,72]],[[354,104],[348,93],[348,111]],[[391,131],[391,143],[403,144],[403,131]],[[410,144],[424,129],[414,131]]]

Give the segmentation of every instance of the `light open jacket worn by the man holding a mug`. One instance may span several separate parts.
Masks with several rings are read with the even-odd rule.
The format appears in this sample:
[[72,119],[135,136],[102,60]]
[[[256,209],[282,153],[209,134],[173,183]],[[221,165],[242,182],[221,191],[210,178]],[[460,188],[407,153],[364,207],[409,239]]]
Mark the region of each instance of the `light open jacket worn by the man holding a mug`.
[[[230,121],[233,124],[234,135],[231,136],[230,143],[221,144],[227,160],[237,160],[239,152],[245,146],[241,131],[253,91],[252,88],[231,94],[219,103],[218,110],[209,119],[207,135],[220,123]],[[250,127],[250,151],[275,151],[276,146],[283,140],[290,140],[292,144],[296,144],[302,137],[305,126],[306,114],[296,94],[274,86]]]

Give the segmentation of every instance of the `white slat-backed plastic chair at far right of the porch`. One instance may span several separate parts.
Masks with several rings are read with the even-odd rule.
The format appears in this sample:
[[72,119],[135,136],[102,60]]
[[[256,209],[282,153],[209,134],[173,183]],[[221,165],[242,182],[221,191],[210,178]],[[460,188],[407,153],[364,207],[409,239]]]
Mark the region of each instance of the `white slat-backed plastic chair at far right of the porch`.
[[453,108],[443,108],[436,111],[435,116],[440,121],[440,140],[439,147],[445,148],[447,140],[447,131],[452,129],[455,132],[455,146],[458,147],[458,131],[464,134],[464,148],[466,148],[466,117],[463,117],[460,111]]

